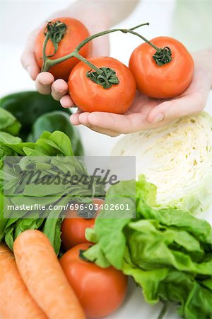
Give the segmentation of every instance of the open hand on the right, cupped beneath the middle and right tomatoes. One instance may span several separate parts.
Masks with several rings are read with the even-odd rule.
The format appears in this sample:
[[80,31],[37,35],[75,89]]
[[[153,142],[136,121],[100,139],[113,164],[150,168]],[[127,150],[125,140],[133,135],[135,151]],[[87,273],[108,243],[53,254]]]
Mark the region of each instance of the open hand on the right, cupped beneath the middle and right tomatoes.
[[[139,92],[134,103],[123,114],[104,112],[78,112],[71,115],[73,125],[83,124],[91,130],[110,136],[128,134],[138,130],[147,130],[163,126],[168,122],[199,113],[206,106],[212,86],[211,50],[198,52],[194,56],[194,78],[186,91],[174,99],[150,99]],[[63,98],[64,107],[71,104],[71,99]]]

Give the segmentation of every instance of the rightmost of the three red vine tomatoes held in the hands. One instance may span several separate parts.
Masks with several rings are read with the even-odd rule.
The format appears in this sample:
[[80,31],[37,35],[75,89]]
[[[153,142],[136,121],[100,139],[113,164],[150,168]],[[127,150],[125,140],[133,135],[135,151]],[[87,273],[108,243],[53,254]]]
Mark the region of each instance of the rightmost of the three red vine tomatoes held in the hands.
[[129,69],[134,74],[141,93],[158,99],[175,97],[192,82],[194,61],[187,48],[170,37],[158,37],[151,42],[157,47],[170,47],[172,61],[158,66],[153,60],[155,49],[143,43],[136,47],[129,60]]

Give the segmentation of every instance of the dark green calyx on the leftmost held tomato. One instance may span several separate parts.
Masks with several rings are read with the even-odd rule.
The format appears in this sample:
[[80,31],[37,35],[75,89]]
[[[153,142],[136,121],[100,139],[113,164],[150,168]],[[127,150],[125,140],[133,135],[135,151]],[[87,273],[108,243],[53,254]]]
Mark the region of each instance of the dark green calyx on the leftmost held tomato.
[[44,34],[48,40],[51,40],[54,45],[54,53],[52,55],[47,55],[47,57],[53,57],[58,50],[58,45],[62,38],[64,38],[64,34],[66,33],[66,23],[61,21],[50,21],[47,23],[47,26],[44,30]]

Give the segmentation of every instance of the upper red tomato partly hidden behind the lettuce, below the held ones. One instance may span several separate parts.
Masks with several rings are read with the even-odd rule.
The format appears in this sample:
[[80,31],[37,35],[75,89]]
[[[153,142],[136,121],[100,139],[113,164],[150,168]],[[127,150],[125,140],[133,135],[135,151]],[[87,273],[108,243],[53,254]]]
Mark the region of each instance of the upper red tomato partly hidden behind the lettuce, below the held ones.
[[[100,209],[97,211],[100,213],[105,201],[100,198],[93,198],[93,204]],[[95,218],[82,218],[77,215],[76,210],[70,210],[66,212],[66,217],[61,223],[61,241],[66,250],[78,244],[88,242],[85,237],[86,228],[92,228],[95,223]]]

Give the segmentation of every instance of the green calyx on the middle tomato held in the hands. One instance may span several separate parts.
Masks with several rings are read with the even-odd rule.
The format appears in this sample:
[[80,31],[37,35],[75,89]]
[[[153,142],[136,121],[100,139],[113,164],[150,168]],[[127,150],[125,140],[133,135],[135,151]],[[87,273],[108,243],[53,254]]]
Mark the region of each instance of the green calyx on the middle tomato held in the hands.
[[104,89],[110,89],[114,84],[119,84],[119,78],[117,77],[114,69],[110,67],[100,67],[102,73],[98,74],[95,71],[88,71],[86,77],[96,84],[101,85]]

